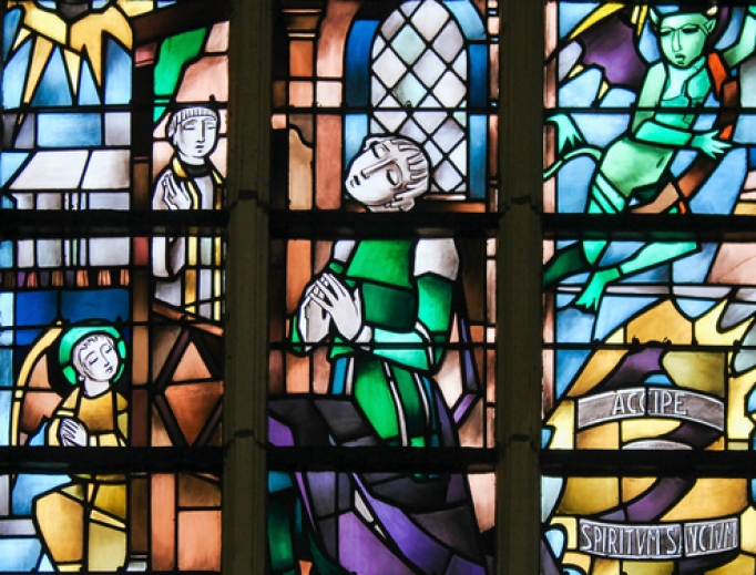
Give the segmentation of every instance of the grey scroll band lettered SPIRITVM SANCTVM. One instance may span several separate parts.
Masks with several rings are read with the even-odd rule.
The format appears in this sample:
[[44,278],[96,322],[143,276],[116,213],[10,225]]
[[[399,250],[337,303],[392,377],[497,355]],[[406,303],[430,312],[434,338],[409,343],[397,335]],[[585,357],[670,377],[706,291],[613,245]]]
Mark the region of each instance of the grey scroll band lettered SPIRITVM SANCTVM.
[[739,546],[737,518],[651,525],[580,520],[580,551],[624,559],[712,555]]

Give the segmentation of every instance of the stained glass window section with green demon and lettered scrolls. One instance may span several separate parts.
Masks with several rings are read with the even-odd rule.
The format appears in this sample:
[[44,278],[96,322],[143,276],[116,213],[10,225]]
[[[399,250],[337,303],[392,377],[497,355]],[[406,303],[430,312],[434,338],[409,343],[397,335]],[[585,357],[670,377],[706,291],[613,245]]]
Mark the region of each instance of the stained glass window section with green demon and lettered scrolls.
[[750,573],[756,7],[546,4],[541,573]]

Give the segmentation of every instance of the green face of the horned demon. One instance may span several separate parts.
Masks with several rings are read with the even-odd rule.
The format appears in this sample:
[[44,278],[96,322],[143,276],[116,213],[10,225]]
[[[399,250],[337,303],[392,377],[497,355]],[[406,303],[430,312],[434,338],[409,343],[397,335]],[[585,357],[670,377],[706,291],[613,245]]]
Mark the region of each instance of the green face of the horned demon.
[[665,60],[676,68],[689,68],[704,53],[707,24],[703,14],[672,14],[658,27],[658,38]]

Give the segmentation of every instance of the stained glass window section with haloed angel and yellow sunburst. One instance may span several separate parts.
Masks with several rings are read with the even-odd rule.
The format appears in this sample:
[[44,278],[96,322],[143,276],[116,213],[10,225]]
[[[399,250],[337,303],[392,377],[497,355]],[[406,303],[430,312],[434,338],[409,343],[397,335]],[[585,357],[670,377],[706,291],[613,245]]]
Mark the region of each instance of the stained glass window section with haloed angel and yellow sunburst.
[[218,572],[228,6],[2,8],[0,571]]

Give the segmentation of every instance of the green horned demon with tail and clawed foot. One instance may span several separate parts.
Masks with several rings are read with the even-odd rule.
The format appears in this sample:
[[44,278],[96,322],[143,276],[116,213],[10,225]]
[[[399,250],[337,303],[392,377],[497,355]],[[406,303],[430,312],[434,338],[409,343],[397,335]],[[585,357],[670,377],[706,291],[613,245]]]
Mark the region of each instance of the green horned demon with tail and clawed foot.
[[[733,146],[726,115],[721,126],[709,129],[699,129],[697,120],[711,96],[725,112],[739,104],[728,101],[725,84],[736,75],[736,66],[756,51],[756,7],[747,8],[738,39],[727,50],[709,45],[717,7],[708,2],[653,7],[648,17],[661,58],[646,72],[626,132],[599,148],[581,144],[583,136],[568,114],[549,119],[559,132],[560,153],[568,143],[580,145],[546,170],[545,178],[578,155],[596,161],[588,214],[687,212],[697,187],[685,189],[684,178],[673,176],[678,153],[696,153],[698,164],[688,171],[693,181],[695,172],[713,171]],[[595,312],[609,284],[699,250],[694,240],[650,242],[620,261],[604,263],[609,246],[606,239],[585,239],[560,249],[544,267],[544,287],[588,271],[590,278],[574,305]]]

